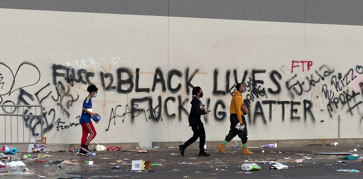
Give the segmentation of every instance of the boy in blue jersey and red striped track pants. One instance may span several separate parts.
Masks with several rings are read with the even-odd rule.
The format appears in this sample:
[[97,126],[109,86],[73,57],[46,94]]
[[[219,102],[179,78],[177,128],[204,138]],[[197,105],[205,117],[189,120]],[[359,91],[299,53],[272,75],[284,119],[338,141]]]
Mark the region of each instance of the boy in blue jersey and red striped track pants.
[[[93,113],[92,111],[92,98],[97,97],[98,88],[96,87],[96,85],[89,85],[87,91],[89,92],[89,94],[86,97],[85,101],[83,101],[82,114],[81,118],[79,119],[79,123],[82,126],[81,149],[79,149],[80,155],[90,152],[90,150],[88,149],[88,145],[93,140],[93,138],[96,137],[97,134],[96,130],[93,127],[93,123],[91,122],[91,116],[98,116],[97,113]],[[98,122],[95,123],[97,124]]]

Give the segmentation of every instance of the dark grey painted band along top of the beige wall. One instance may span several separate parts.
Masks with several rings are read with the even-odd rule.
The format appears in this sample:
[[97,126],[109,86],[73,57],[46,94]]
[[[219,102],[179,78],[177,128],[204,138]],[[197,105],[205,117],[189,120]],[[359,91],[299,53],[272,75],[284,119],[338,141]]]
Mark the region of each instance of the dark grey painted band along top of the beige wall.
[[0,8],[363,25],[361,0],[1,0]]

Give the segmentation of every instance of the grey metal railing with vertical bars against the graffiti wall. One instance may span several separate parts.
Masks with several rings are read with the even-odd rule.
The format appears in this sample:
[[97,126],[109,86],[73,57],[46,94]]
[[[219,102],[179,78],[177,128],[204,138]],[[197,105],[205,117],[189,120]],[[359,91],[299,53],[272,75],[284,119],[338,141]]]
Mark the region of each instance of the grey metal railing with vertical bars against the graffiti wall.
[[0,105],[0,144],[42,143],[43,123],[42,105]]

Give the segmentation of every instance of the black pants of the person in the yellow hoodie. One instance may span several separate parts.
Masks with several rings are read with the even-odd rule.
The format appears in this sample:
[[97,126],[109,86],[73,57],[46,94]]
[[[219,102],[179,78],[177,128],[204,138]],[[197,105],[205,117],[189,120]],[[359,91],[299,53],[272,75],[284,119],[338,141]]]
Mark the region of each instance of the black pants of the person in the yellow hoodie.
[[229,129],[228,135],[226,135],[225,141],[231,141],[236,135],[238,135],[239,138],[241,138],[242,144],[247,143],[247,123],[246,118],[241,115],[242,122],[245,125],[245,129],[243,131],[237,130],[236,125],[239,122],[236,114],[229,115],[229,121],[231,122],[231,128]]

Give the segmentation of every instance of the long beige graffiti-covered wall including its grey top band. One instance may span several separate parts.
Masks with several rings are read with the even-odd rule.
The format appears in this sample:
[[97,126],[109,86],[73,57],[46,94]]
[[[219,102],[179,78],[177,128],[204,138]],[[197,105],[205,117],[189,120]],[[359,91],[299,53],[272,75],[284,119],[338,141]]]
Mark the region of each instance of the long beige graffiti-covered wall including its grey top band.
[[[50,143],[80,142],[89,84],[96,143],[186,141],[193,86],[221,141],[237,82],[249,140],[362,138],[360,2],[57,2],[0,3],[1,104],[43,105]],[[38,135],[40,119],[17,120],[0,142]]]

